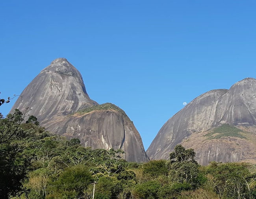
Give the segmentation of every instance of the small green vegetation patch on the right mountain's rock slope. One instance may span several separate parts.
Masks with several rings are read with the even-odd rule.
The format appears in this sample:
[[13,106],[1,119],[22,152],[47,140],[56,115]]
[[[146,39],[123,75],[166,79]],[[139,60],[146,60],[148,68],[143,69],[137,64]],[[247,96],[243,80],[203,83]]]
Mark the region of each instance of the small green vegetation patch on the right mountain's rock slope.
[[244,133],[242,130],[230,125],[230,124],[223,124],[219,127],[214,128],[210,131],[210,133],[206,134],[205,136],[208,139],[219,139],[223,137],[236,137],[236,138],[243,138],[246,139],[241,133]]

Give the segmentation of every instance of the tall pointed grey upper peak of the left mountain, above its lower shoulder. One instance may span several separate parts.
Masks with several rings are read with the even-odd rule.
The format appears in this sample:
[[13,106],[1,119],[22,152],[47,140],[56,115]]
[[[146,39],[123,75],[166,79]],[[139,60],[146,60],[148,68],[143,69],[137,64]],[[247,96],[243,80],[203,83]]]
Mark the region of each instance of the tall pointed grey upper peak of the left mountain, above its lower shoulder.
[[89,98],[80,72],[65,58],[52,61],[20,96],[13,109],[25,112],[29,107],[29,114],[36,116],[41,124],[98,104]]

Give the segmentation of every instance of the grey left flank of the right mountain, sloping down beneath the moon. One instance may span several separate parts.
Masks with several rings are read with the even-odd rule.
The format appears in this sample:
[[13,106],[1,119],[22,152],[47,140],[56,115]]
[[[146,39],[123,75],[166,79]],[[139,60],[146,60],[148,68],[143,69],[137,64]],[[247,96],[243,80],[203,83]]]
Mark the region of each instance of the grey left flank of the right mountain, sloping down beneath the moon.
[[149,158],[168,158],[173,148],[192,133],[211,127],[218,99],[225,89],[211,90],[188,103],[160,129],[147,150]]

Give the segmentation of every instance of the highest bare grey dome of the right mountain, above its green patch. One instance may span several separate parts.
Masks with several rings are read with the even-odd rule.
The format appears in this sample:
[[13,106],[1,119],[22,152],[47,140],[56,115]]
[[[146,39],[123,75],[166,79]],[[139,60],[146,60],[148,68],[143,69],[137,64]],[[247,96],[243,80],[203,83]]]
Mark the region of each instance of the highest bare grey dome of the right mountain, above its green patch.
[[235,83],[218,102],[214,124],[256,124],[256,79]]

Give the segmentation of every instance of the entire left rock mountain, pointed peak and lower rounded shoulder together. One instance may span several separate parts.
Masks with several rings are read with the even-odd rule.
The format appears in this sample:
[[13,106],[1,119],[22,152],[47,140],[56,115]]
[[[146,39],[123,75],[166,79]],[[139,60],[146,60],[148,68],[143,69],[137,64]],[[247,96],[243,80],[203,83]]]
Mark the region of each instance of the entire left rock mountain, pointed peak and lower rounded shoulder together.
[[79,138],[85,147],[123,149],[128,161],[145,162],[141,136],[122,109],[98,105],[86,92],[80,72],[65,58],[43,69],[23,90],[14,109],[37,117],[46,130]]

